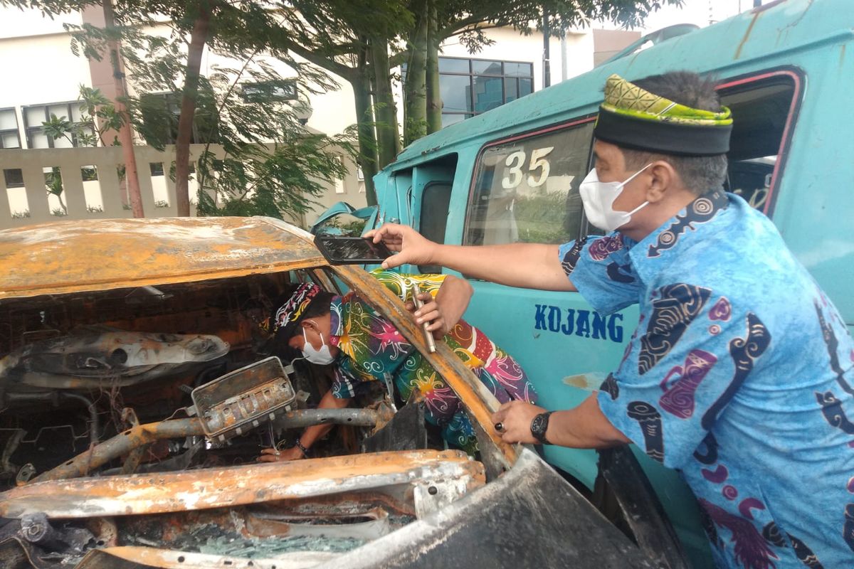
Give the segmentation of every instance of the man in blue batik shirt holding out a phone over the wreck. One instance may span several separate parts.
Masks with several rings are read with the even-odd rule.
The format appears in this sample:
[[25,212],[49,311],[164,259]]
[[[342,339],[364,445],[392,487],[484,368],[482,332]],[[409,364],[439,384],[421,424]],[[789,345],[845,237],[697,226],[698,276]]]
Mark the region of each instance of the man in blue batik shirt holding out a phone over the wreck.
[[579,189],[607,235],[562,247],[444,246],[399,225],[372,235],[401,252],[389,266],[577,290],[605,314],[638,304],[599,392],[553,414],[502,405],[503,438],[637,444],[690,485],[718,566],[854,567],[854,342],[769,219],[722,191],[731,128],[693,73],[614,75]]

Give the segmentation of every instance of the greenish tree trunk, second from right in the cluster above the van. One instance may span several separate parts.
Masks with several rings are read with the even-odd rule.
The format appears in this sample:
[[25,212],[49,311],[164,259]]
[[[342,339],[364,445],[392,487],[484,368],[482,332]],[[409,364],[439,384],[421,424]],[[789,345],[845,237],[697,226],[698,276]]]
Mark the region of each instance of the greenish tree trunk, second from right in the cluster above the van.
[[408,42],[407,78],[403,84],[403,145],[427,134],[427,0],[414,3],[415,27]]

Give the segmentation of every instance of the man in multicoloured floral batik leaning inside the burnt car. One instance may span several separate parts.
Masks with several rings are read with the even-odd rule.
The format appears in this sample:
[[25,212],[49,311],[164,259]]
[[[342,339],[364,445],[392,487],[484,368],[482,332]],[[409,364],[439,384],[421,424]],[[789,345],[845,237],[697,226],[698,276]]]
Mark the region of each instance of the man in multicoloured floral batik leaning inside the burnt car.
[[[430,322],[430,330],[501,403],[535,402],[534,387],[516,360],[483,332],[459,319],[471,296],[468,282],[455,276],[401,275],[385,270],[373,271],[372,275],[404,301],[411,297],[412,283],[418,283],[423,291],[419,298],[428,304],[415,312],[417,322]],[[448,299],[442,301],[445,295]],[[448,303],[455,307],[444,308]],[[308,361],[334,363],[334,380],[319,403],[320,409],[346,407],[366,383],[384,382],[388,375],[402,400],[406,401],[416,388],[424,395],[425,418],[441,430],[447,444],[470,454],[477,452],[477,438],[456,394],[415,347],[356,293],[336,296],[312,283],[303,283],[284,300],[266,328],[302,351]],[[260,461],[304,458],[330,428],[331,425],[308,427],[294,448],[265,449]]]

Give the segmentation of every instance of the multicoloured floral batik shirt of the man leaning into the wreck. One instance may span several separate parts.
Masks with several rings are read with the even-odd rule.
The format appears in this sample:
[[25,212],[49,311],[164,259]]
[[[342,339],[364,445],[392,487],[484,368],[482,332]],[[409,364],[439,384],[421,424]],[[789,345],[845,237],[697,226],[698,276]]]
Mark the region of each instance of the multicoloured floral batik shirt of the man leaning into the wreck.
[[[403,300],[408,298],[412,282],[435,297],[445,278],[388,270],[376,270],[372,275]],[[388,320],[351,292],[332,299],[331,321],[330,344],[341,351],[332,384],[336,398],[352,398],[366,381],[384,381],[389,374],[404,401],[415,387],[424,394],[426,418],[441,427],[448,444],[470,453],[477,451],[477,438],[459,398]],[[535,402],[534,386],[523,369],[486,334],[460,320],[443,340],[501,403],[511,399]]]

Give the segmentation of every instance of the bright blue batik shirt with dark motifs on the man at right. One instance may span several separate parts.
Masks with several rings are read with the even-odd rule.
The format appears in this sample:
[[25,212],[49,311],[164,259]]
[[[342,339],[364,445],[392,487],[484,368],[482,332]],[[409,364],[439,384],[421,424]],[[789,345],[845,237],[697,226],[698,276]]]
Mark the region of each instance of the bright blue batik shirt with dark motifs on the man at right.
[[718,566],[854,567],[854,342],[769,219],[716,192],[560,260],[597,311],[640,306],[600,408],[681,471]]

